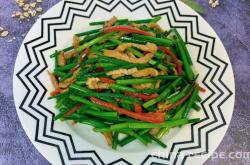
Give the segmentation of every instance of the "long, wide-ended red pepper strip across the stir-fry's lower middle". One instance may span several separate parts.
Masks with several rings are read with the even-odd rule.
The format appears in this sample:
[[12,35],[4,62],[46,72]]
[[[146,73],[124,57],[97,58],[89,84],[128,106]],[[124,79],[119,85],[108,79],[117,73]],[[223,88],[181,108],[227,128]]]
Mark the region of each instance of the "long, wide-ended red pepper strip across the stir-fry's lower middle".
[[135,113],[132,111],[129,111],[127,109],[123,109],[121,107],[118,107],[112,103],[108,103],[105,101],[102,101],[100,99],[97,99],[96,97],[89,97],[90,100],[98,105],[113,109],[114,111],[117,111],[120,114],[127,115],[131,118],[151,122],[151,123],[162,123],[165,120],[164,113],[161,112],[154,112],[154,113]]

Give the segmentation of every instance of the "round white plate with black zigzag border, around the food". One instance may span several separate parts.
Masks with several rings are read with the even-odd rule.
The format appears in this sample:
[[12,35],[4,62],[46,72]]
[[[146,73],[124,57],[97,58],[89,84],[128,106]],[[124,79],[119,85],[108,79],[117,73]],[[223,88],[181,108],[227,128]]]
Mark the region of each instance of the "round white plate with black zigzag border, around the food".
[[[168,148],[133,142],[110,149],[90,127],[53,121],[58,112],[48,100],[52,85],[46,70],[53,69],[49,55],[71,44],[73,34],[91,28],[93,20],[142,19],[162,15],[160,25],[175,27],[189,43],[202,94],[198,124],[173,129],[164,142]],[[61,1],[39,19],[27,34],[13,78],[17,113],[28,137],[53,164],[202,164],[219,145],[228,128],[234,105],[234,78],[228,55],[213,29],[179,1],[71,0]]]

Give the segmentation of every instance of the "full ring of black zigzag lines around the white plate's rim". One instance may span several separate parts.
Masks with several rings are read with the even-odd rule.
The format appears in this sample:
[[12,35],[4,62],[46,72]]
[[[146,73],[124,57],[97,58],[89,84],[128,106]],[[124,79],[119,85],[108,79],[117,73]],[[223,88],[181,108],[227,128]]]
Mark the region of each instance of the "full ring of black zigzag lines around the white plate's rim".
[[[178,146],[183,145],[183,144],[193,144],[193,146],[186,147],[186,148],[179,147],[178,152],[201,148],[201,138],[202,138],[201,131],[204,130],[208,126],[216,124],[219,120],[222,120],[223,121],[222,124],[216,125],[216,126],[210,128],[209,130],[206,131],[206,136],[204,137],[204,138],[206,138],[205,151],[195,153],[195,154],[197,155],[197,154],[207,153],[209,150],[209,148],[208,148],[208,141],[209,141],[208,134],[216,129],[219,129],[220,127],[222,127],[226,124],[225,119],[223,117],[223,113],[221,112],[220,106],[232,95],[232,91],[230,91],[228,89],[228,87],[221,80],[225,70],[227,69],[228,64],[226,62],[224,62],[223,60],[219,59],[218,57],[216,57],[213,54],[213,51],[211,53],[211,57],[213,57],[213,60],[206,57],[207,53],[205,53],[204,58],[202,58],[201,57],[201,49],[203,46],[196,43],[196,42],[200,42],[202,44],[205,44],[206,45],[205,52],[207,52],[209,45],[212,45],[212,50],[214,50],[215,38],[200,33],[199,27],[198,27],[198,17],[194,16],[194,15],[182,15],[180,13],[175,1],[158,2],[158,1],[149,1],[148,0],[148,1],[142,2],[142,1],[104,1],[104,0],[99,0],[99,1],[95,1],[95,2],[98,2],[98,3],[94,4],[94,1],[87,1],[87,0],[83,1],[82,3],[73,2],[73,1],[65,1],[63,3],[63,7],[61,10],[60,16],[41,19],[41,29],[42,29],[41,36],[38,38],[35,38],[29,42],[26,42],[24,44],[29,62],[17,73],[17,77],[20,79],[20,81],[22,82],[24,87],[27,89],[27,93],[26,93],[21,105],[19,106],[19,108],[22,111],[24,111],[25,113],[27,113],[29,116],[31,116],[34,120],[36,120],[35,141],[56,147],[58,150],[58,153],[60,155],[62,164],[65,164],[66,160],[69,160],[69,161],[71,161],[71,160],[89,160],[89,162],[91,164],[104,164],[104,162],[101,160],[101,158],[98,156],[98,154],[94,150],[93,151],[77,151],[71,135],[66,134],[64,132],[57,131],[53,128],[54,122],[51,119],[54,117],[54,113],[51,112],[50,110],[48,110],[45,106],[43,106],[41,104],[47,90],[44,87],[44,85],[40,82],[38,76],[42,72],[44,72],[45,69],[47,68],[47,63],[46,63],[45,58],[42,55],[42,53],[44,51],[51,49],[51,48],[54,48],[56,46],[56,32],[57,31],[70,30],[72,27],[72,24],[73,24],[73,20],[76,16],[90,18],[97,7],[101,8],[103,10],[106,10],[106,11],[112,11],[116,6],[118,6],[119,4],[122,4],[124,7],[126,7],[130,11],[134,11],[134,10],[137,10],[141,7],[145,7],[151,16],[154,16],[154,14],[153,14],[154,11],[160,11],[160,12],[162,11],[161,15],[166,16],[168,18],[169,24],[172,27],[183,28],[185,30],[186,40],[189,42],[189,44],[199,47],[200,51],[199,51],[199,56],[197,58],[197,61],[198,61],[198,63],[200,63],[204,67],[208,68],[208,72],[206,73],[206,76],[203,79],[203,83],[207,87],[207,89],[209,89],[211,91],[211,95],[209,97],[207,97],[202,103],[203,109],[205,109],[204,104],[206,102],[208,102],[209,100],[211,100],[211,98],[216,93],[219,92],[219,95],[216,98],[214,98],[213,100],[211,100],[211,102],[209,103],[209,107],[210,107],[210,110],[212,112],[212,116],[209,116],[209,114],[207,113],[207,110],[204,111],[206,118],[204,118],[202,120],[202,122],[205,122],[206,120],[209,120],[209,119],[212,119],[212,121],[209,123],[206,123],[205,125],[201,125],[202,122],[199,123],[199,125],[201,125],[201,126],[198,128],[198,145],[195,145],[195,143],[194,143],[196,140],[196,139],[194,139],[194,129],[195,129],[194,127],[196,126],[196,124],[193,124],[191,127],[192,139],[190,141],[173,143],[173,145],[171,147],[171,151],[174,151],[175,148],[177,148]],[[100,5],[100,3],[101,3],[101,5]],[[168,5],[168,7],[161,7],[161,5],[165,5],[165,4],[171,4],[171,5]],[[87,5],[87,7],[85,7],[85,9],[83,9],[84,5]],[[78,6],[79,8],[75,7],[75,6]],[[111,6],[111,8],[110,8],[110,6]],[[92,10],[91,10],[91,7],[93,7]],[[152,12],[152,9],[153,9],[153,12]],[[74,11],[82,12],[83,14],[77,14],[77,13],[74,13]],[[176,12],[174,12],[174,11],[176,11]],[[88,12],[90,12],[90,13],[88,13]],[[66,13],[65,20],[62,18],[64,13]],[[73,13],[72,19],[69,18],[69,15],[71,13]],[[86,14],[84,14],[84,13],[86,13]],[[177,14],[177,17],[179,20],[176,18],[175,14]],[[174,19],[174,25],[171,22],[170,15]],[[182,19],[180,19],[180,18],[182,18]],[[188,20],[185,20],[186,18],[188,18]],[[70,22],[70,20],[71,20],[71,22]],[[54,21],[54,22],[63,21],[63,22],[49,23],[50,21]],[[70,22],[69,25],[68,25],[68,22]],[[177,25],[178,23],[181,23],[181,24],[184,23],[185,26]],[[61,26],[61,25],[64,25],[64,27],[63,28],[54,28],[52,30],[52,27],[57,27],[57,26]],[[189,31],[187,28],[188,26],[191,27]],[[46,38],[46,36],[45,36],[46,33],[43,31],[45,29],[45,27],[47,27],[47,38],[48,38],[46,41],[43,40],[44,38]],[[196,29],[197,31],[194,32],[193,29]],[[52,33],[51,33],[51,31],[52,31]],[[188,33],[191,34],[191,39],[195,40],[196,42],[191,42],[188,40],[188,37],[187,37]],[[52,36],[51,34],[54,34],[53,35],[54,38],[51,38],[51,36]],[[201,37],[202,39],[200,38],[200,36],[202,36]],[[204,39],[204,38],[206,38],[206,39]],[[36,42],[40,42],[40,43],[34,45],[34,43],[36,43]],[[39,48],[41,46],[44,46],[44,45],[46,45],[46,48],[39,50]],[[34,54],[33,58],[35,58],[35,61],[32,61],[32,59],[31,59],[32,54]],[[38,57],[41,57],[42,60],[39,59]],[[32,67],[32,65],[34,65],[34,66]],[[39,67],[41,67],[41,68],[39,68]],[[214,69],[214,67],[215,67],[215,69]],[[39,70],[38,70],[38,68],[39,68]],[[213,70],[215,70],[215,71],[213,71]],[[222,70],[222,71],[220,71],[220,70]],[[214,73],[212,73],[212,72],[214,72]],[[26,74],[23,75],[24,73],[26,73]],[[222,85],[222,87],[227,91],[227,93],[223,93],[223,91],[220,89],[220,87],[216,83],[214,83],[215,75],[219,75],[218,81]],[[208,80],[209,76],[212,77],[211,80]],[[34,81],[32,81],[32,78],[35,79],[36,83],[38,83],[40,88],[38,88],[37,85],[34,83]],[[208,81],[211,81],[212,84],[208,84],[207,83]],[[32,86],[32,89],[30,89],[30,87],[27,84],[30,84]],[[215,88],[216,91],[213,88]],[[31,92],[33,90],[35,90],[34,94],[32,94],[32,92]],[[37,105],[35,105],[34,102],[37,99],[37,96],[39,94],[41,95],[41,97],[37,101]],[[28,97],[31,97],[30,102],[28,102]],[[223,100],[217,105],[217,108],[219,110],[220,115],[216,116],[216,114],[214,113],[214,110],[213,110],[213,104],[216,103],[216,100],[219,97],[223,97]],[[26,104],[28,104],[28,108],[25,108]],[[36,106],[41,108],[42,111],[38,110],[36,108]],[[37,116],[39,116],[39,117],[37,117]],[[40,118],[42,118],[43,120],[41,120]],[[42,130],[40,129],[40,127],[42,127]],[[48,133],[48,127],[49,127],[49,133]],[[41,134],[42,134],[42,136],[41,136]],[[46,140],[44,140],[44,138]],[[53,141],[58,141],[58,142],[60,142],[60,144],[53,143],[53,142],[51,142],[50,139],[53,139]],[[73,154],[72,154],[72,152],[73,152]],[[64,154],[64,153],[66,153],[66,154]],[[86,154],[87,156],[84,156],[84,154]],[[64,155],[66,155],[67,157],[65,157]],[[156,161],[158,159],[159,160],[163,159],[163,160],[168,161],[170,159],[173,159],[173,158],[171,158],[173,156],[174,155],[169,155],[167,158],[161,158],[161,157],[154,157],[154,156],[148,155],[145,158],[145,160],[142,162],[142,164],[150,164],[150,162],[152,164],[157,164]],[[184,164],[184,162],[188,156],[192,156],[192,154],[191,155],[187,154],[184,157],[184,159],[180,160],[182,164]],[[119,159],[119,160],[112,162],[110,164],[116,164],[116,163],[121,162],[121,161],[126,162],[127,164],[131,164],[124,159]],[[178,155],[174,157],[174,164],[177,161],[178,161]],[[160,163],[158,163],[158,164],[160,164]]]

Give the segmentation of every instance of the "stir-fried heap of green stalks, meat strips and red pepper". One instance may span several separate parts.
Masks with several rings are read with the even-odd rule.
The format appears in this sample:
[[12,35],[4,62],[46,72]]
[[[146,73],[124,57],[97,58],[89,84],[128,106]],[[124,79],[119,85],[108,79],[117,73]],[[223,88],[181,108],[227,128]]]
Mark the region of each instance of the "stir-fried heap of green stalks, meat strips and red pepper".
[[134,140],[155,142],[200,110],[199,91],[186,43],[161,19],[111,18],[97,29],[73,36],[72,46],[55,51],[49,72],[56,99],[55,120],[93,126],[113,149]]

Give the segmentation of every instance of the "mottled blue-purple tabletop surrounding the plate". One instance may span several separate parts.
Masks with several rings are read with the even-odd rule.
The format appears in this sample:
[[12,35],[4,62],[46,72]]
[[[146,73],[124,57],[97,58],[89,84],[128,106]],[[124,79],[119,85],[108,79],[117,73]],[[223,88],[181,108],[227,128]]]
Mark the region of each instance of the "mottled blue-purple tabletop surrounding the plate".
[[[59,0],[43,2],[46,11]],[[229,129],[216,150],[224,153],[224,158],[208,159],[205,165],[250,164],[248,158],[230,159],[230,153],[250,152],[250,0],[221,0],[216,9],[211,9],[207,0],[197,0],[206,8],[204,18],[221,38],[229,54],[235,76],[236,102]],[[0,25],[7,27],[9,37],[16,41],[8,43],[0,38],[0,165],[47,165],[50,164],[31,144],[26,136],[15,110],[12,95],[12,74],[18,49],[22,43],[21,34],[27,33],[34,20],[20,26],[11,18],[17,10],[15,1],[0,0]],[[249,154],[250,155],[250,154]]]

